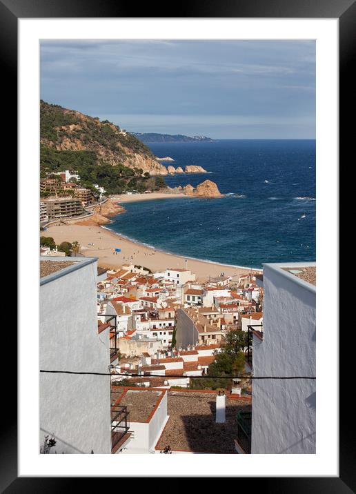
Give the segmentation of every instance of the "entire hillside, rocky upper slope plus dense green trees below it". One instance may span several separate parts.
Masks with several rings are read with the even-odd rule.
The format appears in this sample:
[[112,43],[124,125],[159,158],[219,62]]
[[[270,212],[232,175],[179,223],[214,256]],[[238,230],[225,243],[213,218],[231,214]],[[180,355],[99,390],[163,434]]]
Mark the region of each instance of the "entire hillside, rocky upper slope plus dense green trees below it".
[[161,177],[150,177],[135,167],[136,161],[131,167],[123,164],[130,164],[133,155],[142,159],[153,155],[139,139],[108,120],[99,121],[45,101],[41,101],[40,116],[41,178],[51,172],[77,171],[81,186],[94,188],[93,184],[98,184],[108,195],[166,187]]

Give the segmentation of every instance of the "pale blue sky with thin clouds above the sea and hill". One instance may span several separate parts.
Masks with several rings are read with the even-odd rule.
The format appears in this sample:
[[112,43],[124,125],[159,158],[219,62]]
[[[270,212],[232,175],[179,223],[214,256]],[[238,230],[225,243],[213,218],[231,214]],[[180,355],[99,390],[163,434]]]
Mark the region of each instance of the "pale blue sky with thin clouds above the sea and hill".
[[315,138],[315,41],[41,41],[41,99],[132,132]]

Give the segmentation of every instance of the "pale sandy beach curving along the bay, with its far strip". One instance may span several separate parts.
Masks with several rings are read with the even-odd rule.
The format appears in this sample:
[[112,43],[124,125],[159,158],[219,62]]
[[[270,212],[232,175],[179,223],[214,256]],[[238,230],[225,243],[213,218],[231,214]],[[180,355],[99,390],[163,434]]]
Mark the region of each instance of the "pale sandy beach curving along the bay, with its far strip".
[[[112,197],[120,204],[129,201],[149,200],[149,199],[164,199],[166,197],[186,197],[184,194],[136,194],[123,195]],[[150,268],[153,272],[166,270],[166,268],[187,268],[192,270],[192,273],[197,275],[201,281],[224,273],[225,275],[239,275],[241,273],[249,273],[249,268],[240,268],[222,264],[214,264],[208,261],[199,261],[172,255],[161,250],[155,250],[130,241],[120,235],[111,232],[106,227],[95,225],[59,225],[49,226],[46,232],[41,232],[41,235],[53,237],[56,244],[62,241],[79,241],[81,245],[81,253],[86,257],[98,257],[99,266],[103,268],[119,268],[122,264],[132,263]],[[94,245],[90,245],[94,244]],[[120,248],[121,252],[115,253],[115,248]],[[259,270],[253,269],[258,272]]]

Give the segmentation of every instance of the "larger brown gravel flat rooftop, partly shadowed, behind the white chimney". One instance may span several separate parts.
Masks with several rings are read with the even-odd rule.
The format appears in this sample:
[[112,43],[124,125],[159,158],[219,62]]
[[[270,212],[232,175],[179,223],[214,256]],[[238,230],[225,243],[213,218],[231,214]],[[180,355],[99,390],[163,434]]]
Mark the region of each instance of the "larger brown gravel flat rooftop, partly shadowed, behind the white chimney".
[[236,453],[237,412],[251,411],[251,398],[226,396],[226,422],[215,423],[216,391],[168,391],[170,418],[156,450]]

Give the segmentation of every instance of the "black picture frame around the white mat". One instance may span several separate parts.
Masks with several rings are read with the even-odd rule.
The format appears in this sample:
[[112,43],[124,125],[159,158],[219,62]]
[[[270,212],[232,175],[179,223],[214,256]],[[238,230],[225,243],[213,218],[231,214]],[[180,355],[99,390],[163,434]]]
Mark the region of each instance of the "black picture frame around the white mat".
[[[220,0],[197,1],[174,5],[174,12],[166,6],[152,3],[128,3],[111,0],[0,0],[0,60],[3,82],[3,117],[5,116],[6,146],[11,146],[11,164],[17,149],[17,21],[19,18],[70,18],[70,17],[209,17],[209,18],[337,18],[339,19],[339,116],[340,116],[340,164],[346,164],[353,157],[355,134],[353,121],[353,95],[355,77],[355,33],[356,4],[353,0]],[[139,11],[139,16],[137,16]],[[4,108],[5,107],[5,108]],[[350,119],[348,119],[350,117]],[[353,146],[354,147],[354,146]],[[344,165],[345,166],[345,165]],[[340,167],[340,171],[343,168]],[[11,180],[14,181],[12,175]],[[350,186],[349,186],[350,187]],[[346,186],[347,190],[347,186]],[[349,190],[350,191],[350,190]],[[346,214],[346,209],[340,208]],[[340,215],[340,219],[343,214]],[[340,259],[342,257],[340,256]],[[340,275],[342,274],[340,270]],[[8,325],[6,325],[8,326]],[[340,325],[340,330],[342,326]],[[341,333],[342,335],[342,333]],[[340,342],[342,342],[340,335]],[[3,331],[3,348],[14,352],[12,330]],[[340,344],[343,357],[340,358],[340,375],[351,373],[350,360],[344,355],[345,348]],[[5,370],[6,369],[6,374]],[[66,488],[82,482],[73,477],[18,477],[17,473],[17,370],[14,362],[3,366],[3,406],[4,414],[0,442],[0,488],[6,493],[63,492]],[[351,391],[351,393],[350,393]],[[238,486],[251,488],[259,482],[264,493],[350,493],[356,491],[355,461],[355,420],[346,400],[353,394],[353,386],[348,388],[348,380],[340,380],[339,397],[339,477],[242,477]],[[352,397],[352,396],[351,396]],[[326,411],[327,413],[327,411]],[[258,460],[257,460],[258,461]],[[115,474],[114,474],[115,475]],[[139,476],[139,474],[137,475]],[[217,469],[217,477],[219,477]],[[234,474],[232,473],[232,476]],[[115,480],[115,479],[114,479]],[[95,484],[94,484],[95,482]],[[95,488],[95,479],[90,486]],[[102,482],[102,479],[100,480]],[[99,484],[98,484],[99,485]],[[102,486],[102,484],[101,484]],[[121,484],[122,487],[122,484]],[[119,486],[117,486],[119,488]]]

